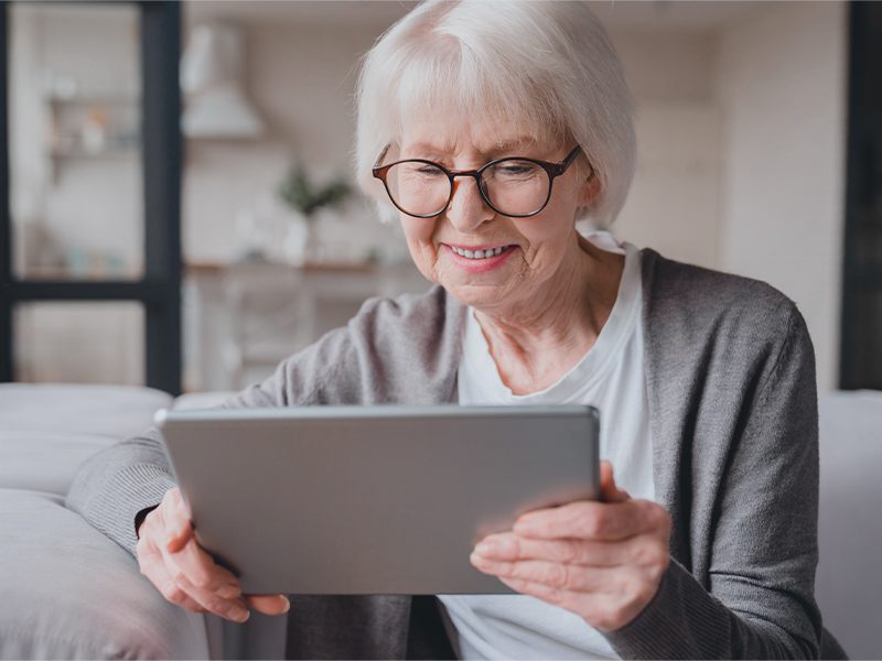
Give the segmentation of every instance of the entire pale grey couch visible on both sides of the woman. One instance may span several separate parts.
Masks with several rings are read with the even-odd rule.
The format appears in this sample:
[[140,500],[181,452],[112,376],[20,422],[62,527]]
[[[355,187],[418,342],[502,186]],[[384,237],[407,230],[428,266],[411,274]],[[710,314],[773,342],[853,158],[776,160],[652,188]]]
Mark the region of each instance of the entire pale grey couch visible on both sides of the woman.
[[[83,460],[172,403],[140,388],[0,384],[0,659],[283,657],[284,616],[184,611],[64,508]],[[818,602],[847,652],[880,658],[882,393],[832,393],[820,411]]]

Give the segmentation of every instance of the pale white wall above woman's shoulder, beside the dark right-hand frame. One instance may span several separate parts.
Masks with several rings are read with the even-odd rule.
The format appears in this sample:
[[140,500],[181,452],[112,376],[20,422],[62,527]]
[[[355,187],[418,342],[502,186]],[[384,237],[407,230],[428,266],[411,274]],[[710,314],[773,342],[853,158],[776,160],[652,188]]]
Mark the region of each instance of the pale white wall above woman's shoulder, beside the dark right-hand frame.
[[720,266],[796,301],[818,383],[838,372],[846,7],[785,2],[723,32]]

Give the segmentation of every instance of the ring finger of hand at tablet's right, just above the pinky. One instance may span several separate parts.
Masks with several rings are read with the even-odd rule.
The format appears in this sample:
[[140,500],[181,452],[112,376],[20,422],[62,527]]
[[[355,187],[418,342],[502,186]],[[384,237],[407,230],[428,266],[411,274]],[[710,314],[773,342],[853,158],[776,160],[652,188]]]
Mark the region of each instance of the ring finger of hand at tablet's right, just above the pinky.
[[584,567],[541,560],[492,561],[481,555],[472,555],[470,561],[476,570],[499,578],[517,578],[559,590],[592,594],[621,592],[626,576],[621,567]]

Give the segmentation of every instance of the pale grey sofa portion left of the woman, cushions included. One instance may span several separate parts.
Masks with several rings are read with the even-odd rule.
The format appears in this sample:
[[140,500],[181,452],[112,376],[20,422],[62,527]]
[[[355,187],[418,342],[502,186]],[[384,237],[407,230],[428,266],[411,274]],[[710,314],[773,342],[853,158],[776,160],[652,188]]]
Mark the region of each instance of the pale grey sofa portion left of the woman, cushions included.
[[64,497],[92,454],[175,402],[148,388],[0,383],[0,659],[283,659],[287,616],[245,625],[166,602]]

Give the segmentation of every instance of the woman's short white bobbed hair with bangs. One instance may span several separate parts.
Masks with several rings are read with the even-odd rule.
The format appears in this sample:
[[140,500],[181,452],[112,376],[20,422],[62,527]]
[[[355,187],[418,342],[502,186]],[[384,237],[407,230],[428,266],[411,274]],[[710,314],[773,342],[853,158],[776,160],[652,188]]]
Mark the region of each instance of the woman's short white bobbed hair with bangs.
[[397,212],[372,166],[408,121],[438,104],[463,118],[503,109],[537,140],[578,142],[600,181],[578,219],[609,227],[619,215],[634,176],[633,101],[585,2],[430,0],[377,40],[356,89],[355,167],[384,219]]

